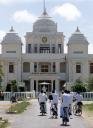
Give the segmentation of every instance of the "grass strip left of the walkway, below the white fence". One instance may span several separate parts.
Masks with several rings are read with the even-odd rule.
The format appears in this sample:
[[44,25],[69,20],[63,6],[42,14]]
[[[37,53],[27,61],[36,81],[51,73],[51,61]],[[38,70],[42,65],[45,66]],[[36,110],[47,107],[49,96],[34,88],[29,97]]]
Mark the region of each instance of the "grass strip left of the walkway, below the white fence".
[[24,112],[24,110],[26,110],[28,105],[30,105],[30,103],[27,101],[13,103],[13,104],[11,104],[11,107],[8,109],[8,113],[20,114],[20,113]]

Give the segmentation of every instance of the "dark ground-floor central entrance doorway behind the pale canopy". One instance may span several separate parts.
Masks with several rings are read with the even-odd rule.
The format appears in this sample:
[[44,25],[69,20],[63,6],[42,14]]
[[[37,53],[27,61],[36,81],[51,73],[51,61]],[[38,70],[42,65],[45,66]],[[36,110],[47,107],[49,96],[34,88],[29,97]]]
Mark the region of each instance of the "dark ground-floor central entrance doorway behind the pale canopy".
[[51,80],[39,80],[38,81],[38,92],[41,92],[42,89],[46,90],[46,92],[51,92],[51,89],[52,89]]

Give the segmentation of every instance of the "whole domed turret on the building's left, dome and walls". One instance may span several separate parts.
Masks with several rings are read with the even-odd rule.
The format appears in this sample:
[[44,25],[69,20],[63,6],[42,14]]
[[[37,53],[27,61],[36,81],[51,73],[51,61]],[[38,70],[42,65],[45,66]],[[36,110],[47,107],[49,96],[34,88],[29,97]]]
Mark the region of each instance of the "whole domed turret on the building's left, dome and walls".
[[11,56],[16,55],[20,56],[22,52],[22,42],[21,38],[18,34],[14,31],[13,27],[11,27],[10,31],[5,35],[3,41],[1,42],[2,45],[2,53],[4,56],[7,54]]

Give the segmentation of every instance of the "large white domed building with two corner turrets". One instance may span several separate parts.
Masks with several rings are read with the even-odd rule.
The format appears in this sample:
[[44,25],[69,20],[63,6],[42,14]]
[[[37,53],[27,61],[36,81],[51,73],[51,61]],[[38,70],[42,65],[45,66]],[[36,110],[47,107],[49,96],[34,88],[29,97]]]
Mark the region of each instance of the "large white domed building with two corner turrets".
[[22,41],[11,28],[1,42],[0,64],[6,88],[11,80],[23,81],[25,90],[61,90],[65,83],[76,79],[85,81],[93,74],[93,55],[88,54],[88,41],[77,28],[68,41],[68,52],[64,54],[64,34],[57,31],[57,24],[44,10],[33,24],[32,32],[25,35],[26,53],[22,53]]

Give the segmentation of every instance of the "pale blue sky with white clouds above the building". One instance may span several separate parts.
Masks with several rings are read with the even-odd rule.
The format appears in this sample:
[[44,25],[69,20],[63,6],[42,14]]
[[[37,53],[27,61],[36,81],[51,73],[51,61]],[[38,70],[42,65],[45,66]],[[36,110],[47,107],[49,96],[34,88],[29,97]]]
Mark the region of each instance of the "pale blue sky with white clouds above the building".
[[[43,12],[44,0],[0,0],[0,42],[11,26],[24,42],[26,32]],[[65,35],[66,44],[77,26],[89,42],[93,54],[93,0],[46,0],[46,10]],[[23,47],[24,51],[24,47]]]

